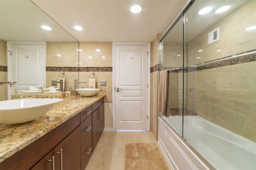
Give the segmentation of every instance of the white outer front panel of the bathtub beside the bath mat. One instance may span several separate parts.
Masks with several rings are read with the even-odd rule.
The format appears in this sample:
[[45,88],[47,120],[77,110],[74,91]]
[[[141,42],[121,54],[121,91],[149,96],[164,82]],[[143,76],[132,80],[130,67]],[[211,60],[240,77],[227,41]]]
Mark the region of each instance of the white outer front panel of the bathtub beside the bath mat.
[[158,119],[158,144],[173,170],[213,169],[188,147],[185,141],[168,127],[160,117]]

